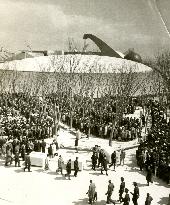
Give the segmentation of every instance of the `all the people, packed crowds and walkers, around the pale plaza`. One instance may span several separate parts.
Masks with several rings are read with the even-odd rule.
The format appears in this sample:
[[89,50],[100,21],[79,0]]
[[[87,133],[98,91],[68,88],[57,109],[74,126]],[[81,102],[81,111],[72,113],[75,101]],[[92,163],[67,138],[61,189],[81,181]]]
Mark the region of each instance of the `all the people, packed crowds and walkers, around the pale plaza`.
[[[136,103],[131,103],[125,109],[125,113],[134,113]],[[148,113],[151,115],[152,126],[148,131],[146,141],[141,141],[138,147],[136,158],[140,170],[147,171],[147,184],[152,183],[152,175],[166,180],[170,183],[170,123],[164,117],[164,109],[158,103],[149,101],[146,104]],[[71,112],[70,112],[71,110]],[[72,114],[71,114],[72,113]],[[145,117],[141,116],[141,121],[137,118],[123,117],[119,124],[113,127],[115,119],[116,104],[114,99],[103,103],[102,99],[91,100],[90,98],[75,97],[70,103],[67,96],[48,95],[44,99],[32,97],[23,93],[1,94],[0,95],[0,151],[5,156],[5,166],[9,166],[15,161],[15,166],[20,167],[21,159],[25,161],[24,171],[31,171],[30,153],[32,151],[48,153],[48,157],[54,157],[58,150],[57,140],[54,139],[47,146],[46,138],[57,136],[59,131],[58,121],[70,125],[72,121],[76,131],[75,147],[78,152],[78,141],[80,133],[83,132],[89,137],[94,135],[100,138],[110,138],[119,141],[129,141],[141,137],[142,126],[145,126]],[[120,151],[120,164],[124,164],[125,151]],[[111,155],[111,163],[108,163],[107,156],[100,146],[93,149],[91,156],[92,169],[101,167],[101,174],[105,171],[108,175],[108,167],[116,169],[117,153]],[[45,169],[48,170],[48,158]],[[59,156],[58,169],[56,172],[63,174],[64,161]],[[71,159],[66,164],[66,174],[70,180]],[[74,161],[74,176],[77,177],[79,171],[78,158]],[[92,186],[93,184],[93,186]],[[92,193],[91,193],[91,190]],[[107,203],[115,203],[111,199],[114,185],[109,181]],[[137,183],[134,183],[132,201],[137,204],[139,198]],[[123,196],[124,193],[124,196]],[[95,185],[90,182],[89,203],[97,200]],[[121,177],[119,190],[119,201],[128,205],[130,201],[129,190],[125,187],[124,178]],[[147,194],[145,204],[151,204],[152,197]]]

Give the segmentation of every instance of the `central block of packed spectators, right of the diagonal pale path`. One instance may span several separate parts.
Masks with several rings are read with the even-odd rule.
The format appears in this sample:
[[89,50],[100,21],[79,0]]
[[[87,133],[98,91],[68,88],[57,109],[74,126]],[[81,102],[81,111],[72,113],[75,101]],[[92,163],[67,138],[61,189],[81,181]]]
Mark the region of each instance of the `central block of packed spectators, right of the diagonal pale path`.
[[[67,102],[69,99],[65,99]],[[104,139],[115,139],[119,141],[129,141],[140,137],[141,123],[139,119],[125,117],[126,114],[133,114],[136,103],[131,100],[124,109],[124,117],[122,116],[119,123],[116,121],[116,99],[93,99],[75,98],[72,108],[72,116],[69,107],[62,109],[62,121],[70,125],[72,118],[72,126],[79,129],[87,136],[93,135]],[[68,103],[69,104],[69,103]],[[119,105],[120,106],[120,105]],[[69,109],[68,109],[69,108]]]

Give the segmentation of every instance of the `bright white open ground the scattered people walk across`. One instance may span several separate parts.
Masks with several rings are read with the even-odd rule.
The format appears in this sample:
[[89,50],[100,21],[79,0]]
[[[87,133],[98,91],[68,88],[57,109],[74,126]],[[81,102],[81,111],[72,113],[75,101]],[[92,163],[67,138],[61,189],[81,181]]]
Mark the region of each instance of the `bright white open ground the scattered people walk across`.
[[[74,177],[72,171],[71,180],[65,179],[64,176],[57,174],[57,162],[55,159],[50,159],[50,170],[44,171],[41,167],[32,167],[32,172],[23,171],[23,163],[21,168],[5,167],[4,161],[0,160],[0,205],[85,205],[88,204],[86,192],[88,190],[89,181],[92,179],[97,187],[98,201],[96,205],[106,204],[106,191],[108,180],[111,179],[115,185],[113,199],[118,199],[118,190],[120,186],[120,177],[125,178],[126,187],[129,191],[133,191],[133,182],[136,181],[140,189],[139,205],[143,205],[146,194],[149,192],[153,197],[152,205],[167,204],[170,187],[158,178],[154,178],[154,183],[150,186],[146,185],[146,173],[139,171],[136,166],[135,152],[136,149],[126,151],[125,165],[118,165],[116,172],[112,167],[108,171],[108,176],[101,175],[100,169],[97,171],[91,170],[91,152],[79,151],[75,153],[74,147],[75,136],[71,135],[66,130],[61,130],[58,141],[65,146],[70,146],[69,149],[60,149],[64,160],[70,157],[74,160],[76,156],[84,161],[84,170],[78,173],[78,177]],[[52,140],[52,139],[51,139]],[[50,140],[50,141],[51,141]],[[112,149],[117,147],[129,146],[136,142],[113,142]],[[80,146],[93,147],[95,144],[108,147],[108,140],[99,138],[83,138],[80,140]],[[72,149],[71,149],[72,148]],[[64,170],[65,173],[65,170]],[[131,195],[132,197],[132,195]],[[130,202],[132,203],[132,200]]]

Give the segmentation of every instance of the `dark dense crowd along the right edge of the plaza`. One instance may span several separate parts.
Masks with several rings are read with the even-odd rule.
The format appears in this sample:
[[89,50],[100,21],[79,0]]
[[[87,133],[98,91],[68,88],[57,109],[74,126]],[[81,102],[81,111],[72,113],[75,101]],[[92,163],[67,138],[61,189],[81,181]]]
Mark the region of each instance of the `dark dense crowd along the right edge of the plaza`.
[[140,170],[147,171],[147,181],[152,175],[170,183],[170,122],[165,118],[164,108],[157,101],[149,101],[148,110],[152,126],[148,130],[146,141],[142,141],[137,150],[137,163]]

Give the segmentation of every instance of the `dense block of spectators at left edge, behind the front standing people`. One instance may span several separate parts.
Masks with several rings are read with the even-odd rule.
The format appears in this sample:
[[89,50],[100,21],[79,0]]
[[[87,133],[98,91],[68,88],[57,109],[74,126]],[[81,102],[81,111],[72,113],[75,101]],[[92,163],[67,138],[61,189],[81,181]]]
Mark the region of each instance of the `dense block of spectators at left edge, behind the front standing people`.
[[0,135],[8,138],[45,139],[54,132],[55,116],[50,99],[24,93],[0,95]]

